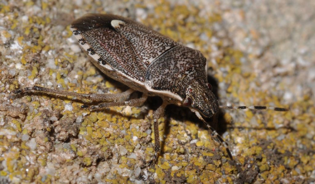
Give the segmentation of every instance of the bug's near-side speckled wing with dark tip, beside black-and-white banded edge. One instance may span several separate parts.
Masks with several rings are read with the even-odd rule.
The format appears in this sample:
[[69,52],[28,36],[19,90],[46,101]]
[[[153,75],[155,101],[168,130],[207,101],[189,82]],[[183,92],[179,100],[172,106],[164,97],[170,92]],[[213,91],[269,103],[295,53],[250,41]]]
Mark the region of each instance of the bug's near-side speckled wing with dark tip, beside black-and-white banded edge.
[[113,20],[131,21],[111,14],[87,14],[75,20],[71,28],[98,68],[114,70],[143,82],[147,66],[138,57],[132,42],[113,28]]

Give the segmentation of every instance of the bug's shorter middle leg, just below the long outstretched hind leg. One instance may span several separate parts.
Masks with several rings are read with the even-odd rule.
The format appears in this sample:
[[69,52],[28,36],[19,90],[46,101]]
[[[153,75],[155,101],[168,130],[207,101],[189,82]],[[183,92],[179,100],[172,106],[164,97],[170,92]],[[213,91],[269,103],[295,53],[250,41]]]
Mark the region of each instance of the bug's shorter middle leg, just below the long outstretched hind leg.
[[143,94],[141,98],[135,98],[135,99],[130,99],[130,100],[125,100],[125,101],[119,101],[119,102],[105,102],[105,103],[99,103],[97,105],[82,105],[81,108],[84,109],[89,109],[90,111],[96,111],[96,110],[102,110],[107,107],[113,107],[113,106],[140,106],[142,105],[148,96],[146,94]]

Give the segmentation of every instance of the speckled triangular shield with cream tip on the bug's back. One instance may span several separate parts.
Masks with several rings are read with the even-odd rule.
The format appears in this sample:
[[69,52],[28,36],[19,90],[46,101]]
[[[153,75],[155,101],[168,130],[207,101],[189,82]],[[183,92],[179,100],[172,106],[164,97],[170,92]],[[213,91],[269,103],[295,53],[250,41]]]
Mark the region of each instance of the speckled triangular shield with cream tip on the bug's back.
[[174,40],[132,20],[113,20],[112,26],[132,43],[139,58],[147,66],[159,55],[179,45]]

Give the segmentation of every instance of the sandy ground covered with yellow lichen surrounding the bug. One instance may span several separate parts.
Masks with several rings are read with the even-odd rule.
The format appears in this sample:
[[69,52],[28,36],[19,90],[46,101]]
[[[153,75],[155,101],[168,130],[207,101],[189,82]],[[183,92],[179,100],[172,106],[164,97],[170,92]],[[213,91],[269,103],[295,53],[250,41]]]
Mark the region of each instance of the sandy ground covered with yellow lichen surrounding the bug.
[[[314,183],[315,2],[1,1],[0,183]],[[213,125],[234,160],[189,109],[160,119],[142,107],[80,109],[87,100],[12,91],[32,85],[79,93],[126,86],[91,64],[69,29],[86,13],[127,16],[200,50],[222,109]],[[136,98],[137,94],[134,94]],[[211,121],[211,120],[209,120]]]

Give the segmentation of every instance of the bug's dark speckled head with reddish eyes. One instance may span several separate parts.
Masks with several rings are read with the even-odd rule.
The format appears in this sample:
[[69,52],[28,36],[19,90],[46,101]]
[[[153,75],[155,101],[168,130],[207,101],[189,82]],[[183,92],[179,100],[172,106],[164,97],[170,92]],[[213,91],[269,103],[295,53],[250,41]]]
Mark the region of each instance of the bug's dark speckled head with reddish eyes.
[[197,79],[186,88],[186,98],[183,106],[189,107],[193,112],[199,112],[208,118],[219,111],[219,102],[212,92],[212,86]]

